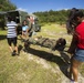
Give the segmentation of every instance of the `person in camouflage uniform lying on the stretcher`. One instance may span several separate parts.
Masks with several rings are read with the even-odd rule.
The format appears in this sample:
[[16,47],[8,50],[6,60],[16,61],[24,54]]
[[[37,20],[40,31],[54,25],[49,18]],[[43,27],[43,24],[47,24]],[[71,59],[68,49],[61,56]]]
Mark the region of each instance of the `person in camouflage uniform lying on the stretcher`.
[[64,50],[66,41],[63,38],[54,40],[54,39],[38,37],[35,39],[30,38],[28,41],[25,41],[25,46],[28,44],[36,44],[52,50]]

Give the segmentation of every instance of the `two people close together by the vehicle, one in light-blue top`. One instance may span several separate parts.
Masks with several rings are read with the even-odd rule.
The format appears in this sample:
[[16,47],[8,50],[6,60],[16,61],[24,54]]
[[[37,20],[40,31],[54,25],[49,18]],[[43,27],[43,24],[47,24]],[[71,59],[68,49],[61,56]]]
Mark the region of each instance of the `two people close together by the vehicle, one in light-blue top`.
[[34,19],[33,17],[27,15],[27,20],[22,22],[22,39],[27,40],[34,32]]

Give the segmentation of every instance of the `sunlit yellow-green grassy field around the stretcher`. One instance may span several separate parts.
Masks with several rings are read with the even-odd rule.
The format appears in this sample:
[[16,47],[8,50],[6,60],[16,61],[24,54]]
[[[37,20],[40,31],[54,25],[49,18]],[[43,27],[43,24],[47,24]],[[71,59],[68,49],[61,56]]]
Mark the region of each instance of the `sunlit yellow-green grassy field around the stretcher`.
[[[6,34],[7,31],[0,31],[0,83],[65,83],[69,80],[65,73],[67,62],[63,58],[70,58],[66,52],[32,44],[27,53],[23,51],[23,42],[18,40],[18,46],[21,48],[20,55],[11,56]],[[59,24],[42,27],[41,32],[34,38],[39,35],[55,40],[64,38],[65,50],[72,39],[72,35],[67,35],[66,29]],[[83,68],[81,72],[83,74]]]

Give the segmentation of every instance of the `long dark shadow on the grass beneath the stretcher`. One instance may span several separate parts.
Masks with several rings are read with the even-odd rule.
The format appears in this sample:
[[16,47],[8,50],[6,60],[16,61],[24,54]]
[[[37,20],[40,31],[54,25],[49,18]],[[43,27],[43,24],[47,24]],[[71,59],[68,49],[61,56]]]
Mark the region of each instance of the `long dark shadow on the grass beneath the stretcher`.
[[[48,61],[54,62],[60,66],[60,70],[63,72],[63,74],[69,77],[69,60],[70,58],[64,53],[64,52],[60,52],[61,56],[59,55],[54,55],[53,53],[48,53],[45,51],[39,51],[39,50],[34,50],[29,48],[29,53],[36,55],[39,58],[45,59]],[[67,58],[67,59],[65,59]],[[67,61],[66,61],[67,60]]]

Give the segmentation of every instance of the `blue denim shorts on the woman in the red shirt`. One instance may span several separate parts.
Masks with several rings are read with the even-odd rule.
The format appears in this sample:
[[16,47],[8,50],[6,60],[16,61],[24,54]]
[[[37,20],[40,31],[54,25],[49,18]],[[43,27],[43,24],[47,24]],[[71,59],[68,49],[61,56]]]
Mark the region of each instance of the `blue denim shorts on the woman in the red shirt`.
[[76,49],[75,54],[73,55],[73,59],[84,62],[84,50],[82,49]]

